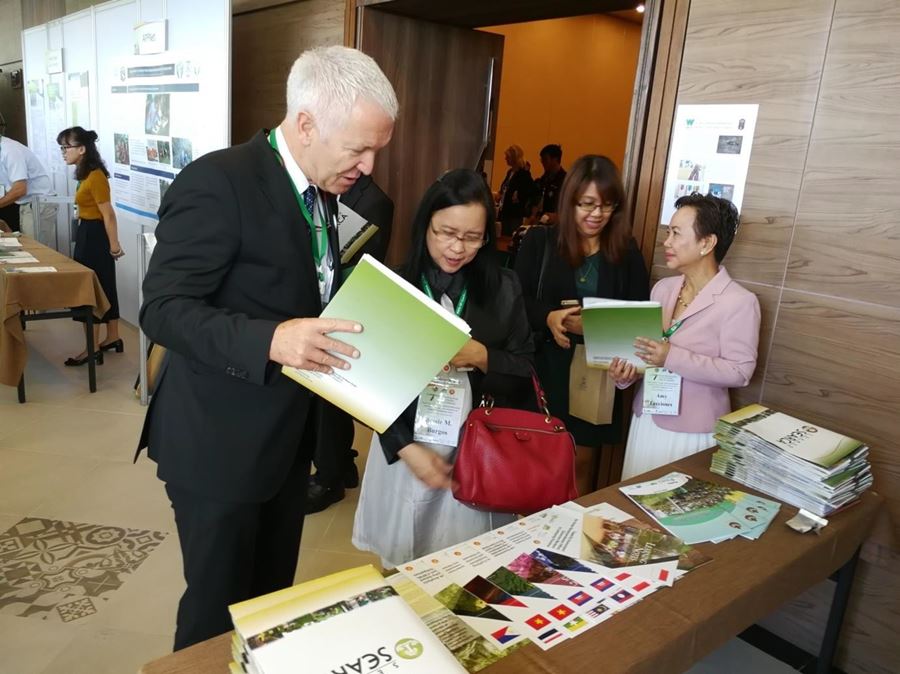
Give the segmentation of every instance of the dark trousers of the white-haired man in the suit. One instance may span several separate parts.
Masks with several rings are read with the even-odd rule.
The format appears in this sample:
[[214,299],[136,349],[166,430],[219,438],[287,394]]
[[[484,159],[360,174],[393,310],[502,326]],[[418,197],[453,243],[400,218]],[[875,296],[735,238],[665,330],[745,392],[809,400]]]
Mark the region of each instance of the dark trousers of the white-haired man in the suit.
[[166,484],[187,581],[176,651],[232,629],[229,604],[294,584],[309,476],[309,460],[299,454],[265,503],[212,501]]

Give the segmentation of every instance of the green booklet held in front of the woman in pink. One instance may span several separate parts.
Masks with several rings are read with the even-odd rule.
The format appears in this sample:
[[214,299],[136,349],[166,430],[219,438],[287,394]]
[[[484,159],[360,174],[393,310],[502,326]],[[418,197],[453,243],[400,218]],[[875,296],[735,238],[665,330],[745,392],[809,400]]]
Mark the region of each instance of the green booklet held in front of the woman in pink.
[[585,297],[581,321],[590,367],[608,369],[612,359],[618,357],[643,372],[646,364],[634,355],[635,338],[662,337],[662,306],[659,302]]

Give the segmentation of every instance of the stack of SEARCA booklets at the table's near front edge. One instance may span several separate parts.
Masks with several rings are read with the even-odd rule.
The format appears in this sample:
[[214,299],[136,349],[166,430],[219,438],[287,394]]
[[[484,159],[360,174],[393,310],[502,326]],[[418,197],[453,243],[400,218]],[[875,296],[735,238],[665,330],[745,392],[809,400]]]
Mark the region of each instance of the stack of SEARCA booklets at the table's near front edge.
[[465,672],[372,566],[233,604],[229,611],[233,671]]

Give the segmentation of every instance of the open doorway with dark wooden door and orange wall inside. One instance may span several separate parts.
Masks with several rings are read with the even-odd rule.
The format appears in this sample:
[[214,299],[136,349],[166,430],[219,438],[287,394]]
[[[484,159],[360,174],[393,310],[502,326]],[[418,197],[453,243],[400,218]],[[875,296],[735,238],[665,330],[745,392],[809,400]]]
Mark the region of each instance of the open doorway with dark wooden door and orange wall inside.
[[[405,257],[409,222],[418,199],[442,171],[459,166],[484,170],[496,188],[505,175],[503,151],[510,139],[510,143],[523,145],[526,158],[540,175],[538,152],[544,137],[546,143],[563,145],[564,166],[587,152],[608,154],[621,166],[634,213],[634,235],[649,264],[659,212],[658,203],[654,207],[653,201],[659,199],[656,183],[661,182],[668,148],[689,0],[648,0],[643,3],[643,13],[636,11],[638,4],[642,3],[347,0],[345,43],[375,58],[395,83],[402,106],[394,141],[379,156],[373,175],[395,201],[390,264]],[[528,45],[522,48],[516,43],[523,38],[527,41],[529,35],[533,40],[541,31],[559,32],[562,27],[574,31],[570,36],[578,34],[579,28],[581,35],[590,30],[596,34],[601,23],[607,29],[618,27],[623,35],[631,33],[633,41],[638,38],[626,59],[628,63],[619,64],[618,72],[611,78],[617,82],[619,102],[615,106],[603,104],[618,120],[610,124],[613,128],[606,134],[607,141],[598,143],[596,134],[586,137],[583,131],[572,130],[571,106],[564,102],[555,115],[545,114],[546,110],[535,115],[541,119],[528,132],[530,140],[512,140],[521,133],[515,128],[521,126],[521,117],[528,112],[527,105],[521,103],[527,99],[527,92],[518,95],[519,103],[503,105],[505,99],[517,97],[515,93],[505,96],[506,88],[512,92],[522,88],[521,75],[517,76],[516,71],[520,66],[528,67]],[[561,35],[557,36],[559,39],[577,38]],[[581,39],[587,45],[589,40]],[[620,44],[627,42],[623,38]],[[569,46],[562,51],[574,53]],[[534,58],[538,56],[539,53],[534,54]],[[558,79],[569,80],[577,92],[576,66],[578,63],[563,66],[566,70]],[[587,80],[593,75],[582,72],[581,77]],[[545,88],[558,84],[547,82]],[[597,85],[585,82],[584,86]],[[540,98],[535,98],[536,105],[540,105]],[[582,115],[589,116],[590,112]],[[546,129],[543,133],[541,125]],[[566,128],[572,133],[571,142],[565,140]],[[586,140],[579,142],[574,140],[576,137]]]

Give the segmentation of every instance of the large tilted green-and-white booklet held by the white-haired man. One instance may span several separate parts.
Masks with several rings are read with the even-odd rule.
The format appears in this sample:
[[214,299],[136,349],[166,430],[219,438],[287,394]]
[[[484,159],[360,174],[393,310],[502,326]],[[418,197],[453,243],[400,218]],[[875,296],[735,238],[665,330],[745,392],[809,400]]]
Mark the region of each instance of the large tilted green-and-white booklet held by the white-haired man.
[[343,318],[360,333],[332,336],[360,353],[349,370],[282,372],[383,433],[469,341],[468,324],[371,255],[328,303],[322,318]]

